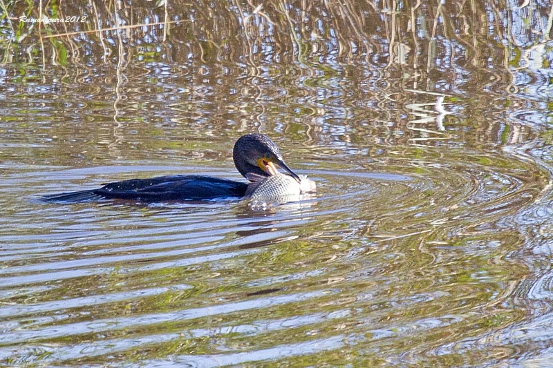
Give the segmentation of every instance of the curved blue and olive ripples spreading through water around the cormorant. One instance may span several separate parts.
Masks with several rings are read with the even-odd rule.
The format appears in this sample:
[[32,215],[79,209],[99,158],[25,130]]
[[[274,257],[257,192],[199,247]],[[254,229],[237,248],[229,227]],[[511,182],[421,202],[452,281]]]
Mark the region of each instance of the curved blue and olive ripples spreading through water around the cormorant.
[[7,175],[0,362],[317,365],[349,351],[354,365],[384,364],[408,341],[406,364],[440,362],[440,349],[461,351],[456,343],[478,337],[482,321],[501,330],[519,318],[505,273],[525,272],[507,259],[523,237],[509,218],[550,180],[500,153],[455,154],[315,164],[299,172],[317,181],[316,199],[265,211],[240,200],[51,204],[36,199],[115,173]]

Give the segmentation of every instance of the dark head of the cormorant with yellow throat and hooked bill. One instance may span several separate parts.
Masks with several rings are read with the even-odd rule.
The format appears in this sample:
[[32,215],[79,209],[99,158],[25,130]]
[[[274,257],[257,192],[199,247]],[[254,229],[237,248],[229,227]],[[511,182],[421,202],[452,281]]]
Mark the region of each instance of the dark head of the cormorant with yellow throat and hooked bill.
[[284,171],[301,182],[299,176],[294,173],[284,162],[281,151],[272,140],[263,134],[252,133],[238,138],[232,152],[234,165],[243,177],[247,173],[270,176],[278,173],[277,164]]

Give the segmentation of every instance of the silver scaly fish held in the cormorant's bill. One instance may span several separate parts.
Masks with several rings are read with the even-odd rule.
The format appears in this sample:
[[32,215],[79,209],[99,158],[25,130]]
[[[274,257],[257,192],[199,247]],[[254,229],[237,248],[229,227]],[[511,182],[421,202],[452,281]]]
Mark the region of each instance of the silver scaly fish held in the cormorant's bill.
[[282,173],[268,177],[247,173],[246,178],[251,183],[247,186],[245,197],[254,200],[289,202],[300,200],[303,194],[317,191],[315,182],[308,179],[306,175],[299,175],[300,182]]

